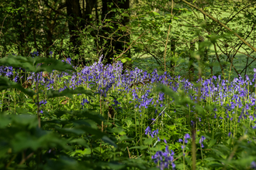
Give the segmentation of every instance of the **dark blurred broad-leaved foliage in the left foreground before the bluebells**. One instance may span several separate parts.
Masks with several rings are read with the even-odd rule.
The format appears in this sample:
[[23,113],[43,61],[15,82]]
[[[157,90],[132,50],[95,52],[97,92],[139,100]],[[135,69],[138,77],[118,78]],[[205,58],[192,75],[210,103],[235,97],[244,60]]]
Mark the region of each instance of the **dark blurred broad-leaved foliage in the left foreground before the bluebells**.
[[[42,63],[43,65],[37,66]],[[74,70],[71,65],[57,59],[26,58],[22,56],[8,56],[0,59],[1,65],[21,66],[28,71],[40,73],[53,70]],[[37,82],[38,83],[38,82]],[[33,90],[24,89],[19,83],[13,83],[1,77],[0,90],[16,89],[33,98]],[[73,97],[73,94],[84,93],[92,95],[90,90],[78,87],[74,90],[64,90],[61,93],[48,90],[48,99],[57,97]],[[41,95],[41,94],[40,94]],[[38,107],[39,104],[37,104]],[[115,150],[117,145],[111,135],[99,131],[97,125],[104,122],[104,118],[93,111],[82,110],[54,110],[41,115],[41,127],[36,120],[35,112],[27,114],[26,110],[16,107],[16,112],[2,112],[0,114],[0,167],[5,169],[102,169],[102,168],[140,168],[145,169],[144,163],[130,162],[123,159],[123,163],[101,161],[98,151]],[[19,114],[18,114],[19,113]],[[121,128],[113,129],[112,133],[125,134]],[[112,139],[111,139],[112,138]],[[105,149],[99,150],[99,142]],[[108,144],[108,145],[106,145]],[[113,148],[112,148],[112,147]],[[83,148],[87,154],[79,154],[78,148]],[[72,155],[72,156],[71,156]],[[78,156],[80,155],[80,156]],[[104,157],[103,157],[104,158]],[[93,162],[93,163],[92,163]]]

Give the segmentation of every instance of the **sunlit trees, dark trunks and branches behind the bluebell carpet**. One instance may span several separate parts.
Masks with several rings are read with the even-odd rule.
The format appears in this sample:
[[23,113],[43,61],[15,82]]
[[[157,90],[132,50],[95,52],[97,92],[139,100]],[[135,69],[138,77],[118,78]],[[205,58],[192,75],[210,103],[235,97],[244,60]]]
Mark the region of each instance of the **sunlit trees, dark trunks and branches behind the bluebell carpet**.
[[[0,56],[121,59],[126,67],[189,76],[252,74],[254,1],[2,1]],[[200,10],[199,10],[200,8]],[[211,15],[212,17],[209,17]],[[232,32],[234,31],[234,32]],[[243,41],[244,40],[244,41]],[[194,66],[195,65],[195,66]],[[146,66],[146,67],[145,67]]]

